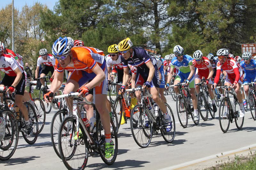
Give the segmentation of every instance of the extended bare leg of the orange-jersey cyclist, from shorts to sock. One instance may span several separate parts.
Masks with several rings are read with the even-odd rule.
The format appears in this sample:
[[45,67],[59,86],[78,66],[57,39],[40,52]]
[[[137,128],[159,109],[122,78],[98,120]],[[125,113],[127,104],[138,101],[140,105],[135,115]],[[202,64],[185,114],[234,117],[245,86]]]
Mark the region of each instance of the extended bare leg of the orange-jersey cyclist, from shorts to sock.
[[110,133],[110,116],[106,107],[107,95],[97,94],[95,95],[95,106],[100,114],[100,120],[103,125],[105,134]]

